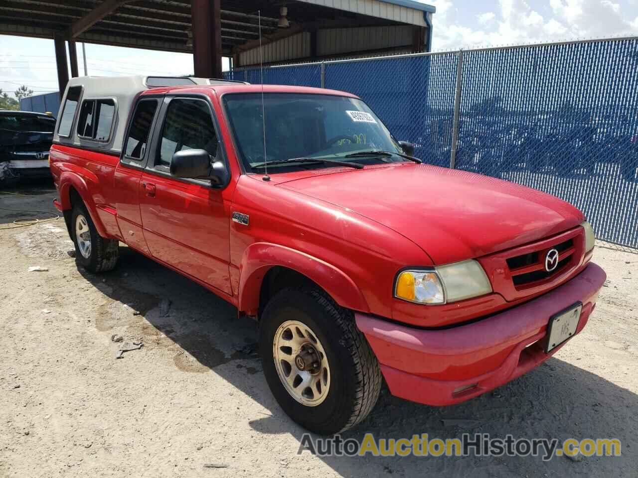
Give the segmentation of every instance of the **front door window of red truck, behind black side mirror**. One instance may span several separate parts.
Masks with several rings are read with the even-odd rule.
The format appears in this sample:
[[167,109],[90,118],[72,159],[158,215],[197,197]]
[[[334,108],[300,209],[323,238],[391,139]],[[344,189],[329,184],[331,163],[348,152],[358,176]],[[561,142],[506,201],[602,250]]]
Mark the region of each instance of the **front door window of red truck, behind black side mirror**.
[[202,99],[184,98],[175,98],[168,103],[159,145],[159,165],[170,166],[173,154],[184,149],[205,149],[215,157],[217,147],[208,103]]

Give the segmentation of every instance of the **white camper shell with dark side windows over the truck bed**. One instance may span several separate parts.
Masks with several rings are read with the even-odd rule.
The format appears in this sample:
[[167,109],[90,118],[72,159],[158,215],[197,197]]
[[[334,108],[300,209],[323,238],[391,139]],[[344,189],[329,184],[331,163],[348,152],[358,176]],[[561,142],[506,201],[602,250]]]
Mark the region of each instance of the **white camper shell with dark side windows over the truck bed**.
[[120,154],[133,100],[159,87],[244,83],[190,76],[79,76],[66,85],[54,143]]

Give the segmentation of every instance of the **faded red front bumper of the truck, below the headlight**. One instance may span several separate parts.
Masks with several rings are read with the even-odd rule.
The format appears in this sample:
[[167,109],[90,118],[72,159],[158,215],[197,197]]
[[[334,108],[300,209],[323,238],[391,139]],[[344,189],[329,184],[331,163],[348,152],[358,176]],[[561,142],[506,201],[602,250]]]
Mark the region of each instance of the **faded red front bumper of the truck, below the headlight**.
[[486,319],[444,330],[420,330],[355,314],[375,352],[390,393],[427,405],[452,405],[529,372],[545,354],[551,315],[582,302],[576,333],[588,321],[605,272],[590,263],[560,287]]

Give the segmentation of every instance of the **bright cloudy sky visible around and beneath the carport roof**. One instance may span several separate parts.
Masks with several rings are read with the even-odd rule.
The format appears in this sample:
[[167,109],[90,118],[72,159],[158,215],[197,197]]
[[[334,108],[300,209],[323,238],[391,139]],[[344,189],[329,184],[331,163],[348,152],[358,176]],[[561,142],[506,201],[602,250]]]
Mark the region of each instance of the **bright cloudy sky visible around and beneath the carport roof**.
[[[429,0],[433,50],[638,36],[638,0]],[[89,75],[188,75],[190,54],[85,45]],[[225,61],[224,69],[228,68]],[[78,69],[84,71],[78,44]],[[0,35],[0,89],[57,91],[53,40]]]

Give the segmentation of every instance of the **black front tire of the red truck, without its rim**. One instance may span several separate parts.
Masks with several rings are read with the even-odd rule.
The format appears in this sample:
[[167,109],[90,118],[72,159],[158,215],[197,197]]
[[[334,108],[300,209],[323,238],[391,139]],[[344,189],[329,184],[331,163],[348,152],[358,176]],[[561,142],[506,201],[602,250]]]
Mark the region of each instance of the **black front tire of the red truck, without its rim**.
[[[275,366],[273,343],[279,326],[294,317],[306,324],[325,350],[330,387],[325,400],[304,405],[288,393]],[[263,373],[281,408],[293,421],[320,435],[359,424],[375,407],[382,384],[379,364],[350,310],[316,289],[284,289],[266,305],[260,321]]]

